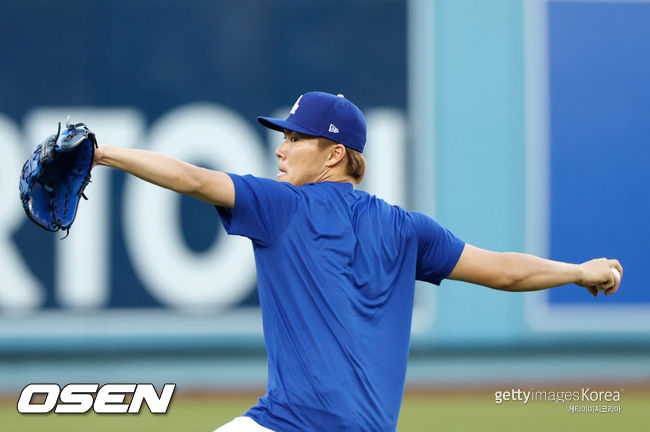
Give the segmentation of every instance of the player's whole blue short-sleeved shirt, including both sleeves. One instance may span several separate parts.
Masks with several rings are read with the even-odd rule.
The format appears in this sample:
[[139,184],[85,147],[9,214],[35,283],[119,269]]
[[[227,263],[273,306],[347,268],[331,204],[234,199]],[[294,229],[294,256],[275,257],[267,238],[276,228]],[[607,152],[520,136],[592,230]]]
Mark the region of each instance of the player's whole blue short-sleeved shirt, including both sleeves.
[[268,353],[245,415],[276,431],[394,431],[416,279],[439,284],[464,243],[350,183],[231,175],[229,234],[252,240]]

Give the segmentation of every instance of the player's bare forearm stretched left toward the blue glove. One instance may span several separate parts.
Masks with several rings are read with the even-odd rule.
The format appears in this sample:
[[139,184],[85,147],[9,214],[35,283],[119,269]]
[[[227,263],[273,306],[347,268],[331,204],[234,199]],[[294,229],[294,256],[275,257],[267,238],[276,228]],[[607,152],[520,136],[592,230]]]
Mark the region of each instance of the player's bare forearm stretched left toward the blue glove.
[[160,153],[101,145],[95,150],[95,165],[120,169],[210,204],[230,208],[235,205],[235,186],[230,176]]

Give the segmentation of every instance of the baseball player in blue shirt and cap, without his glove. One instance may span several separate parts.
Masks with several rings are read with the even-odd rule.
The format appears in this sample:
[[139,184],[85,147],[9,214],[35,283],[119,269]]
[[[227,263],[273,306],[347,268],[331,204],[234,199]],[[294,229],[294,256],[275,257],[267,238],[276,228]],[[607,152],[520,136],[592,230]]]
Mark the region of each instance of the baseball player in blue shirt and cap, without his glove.
[[252,241],[268,387],[219,432],[395,431],[416,279],[618,290],[615,259],[576,265],[479,249],[428,216],[357,190],[366,122],[342,95],[305,93],[286,120],[258,121],[284,134],[277,181],[107,145],[94,159],[215,205],[229,234]]

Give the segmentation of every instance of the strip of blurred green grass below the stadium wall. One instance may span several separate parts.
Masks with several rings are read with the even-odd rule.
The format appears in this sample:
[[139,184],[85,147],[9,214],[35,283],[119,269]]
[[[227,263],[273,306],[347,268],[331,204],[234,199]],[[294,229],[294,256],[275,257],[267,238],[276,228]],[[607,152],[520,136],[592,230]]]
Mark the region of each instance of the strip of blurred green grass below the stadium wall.
[[[16,401],[0,402],[0,430],[13,432],[210,432],[255,403],[255,396],[178,395],[166,415],[20,415]],[[621,413],[571,413],[552,402],[494,403],[491,392],[412,394],[405,398],[398,431],[647,431],[650,392],[622,395]],[[146,412],[146,414],[145,414]]]

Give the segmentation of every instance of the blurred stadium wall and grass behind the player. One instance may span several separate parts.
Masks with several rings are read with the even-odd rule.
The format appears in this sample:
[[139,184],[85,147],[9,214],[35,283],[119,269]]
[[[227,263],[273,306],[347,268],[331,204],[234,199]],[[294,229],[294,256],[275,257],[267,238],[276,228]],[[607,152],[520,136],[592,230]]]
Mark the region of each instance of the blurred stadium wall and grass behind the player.
[[[280,137],[255,116],[310,90],[366,113],[368,191],[480,247],[625,268],[597,299],[418,285],[400,430],[650,428],[650,2],[25,0],[0,24],[6,430],[212,430],[266,379],[245,240],[99,169],[61,241],[20,208],[32,147],[71,115],[105,143],[273,176]],[[155,418],[20,416],[32,382],[177,396]],[[621,412],[495,404],[583,387],[621,391]]]

